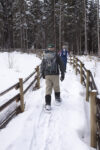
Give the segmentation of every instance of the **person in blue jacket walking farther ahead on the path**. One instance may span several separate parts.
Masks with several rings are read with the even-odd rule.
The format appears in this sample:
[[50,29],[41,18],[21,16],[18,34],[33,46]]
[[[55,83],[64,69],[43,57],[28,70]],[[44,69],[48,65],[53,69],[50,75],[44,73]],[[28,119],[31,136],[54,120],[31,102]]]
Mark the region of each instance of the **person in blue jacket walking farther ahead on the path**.
[[62,46],[62,50],[60,51],[60,56],[61,56],[61,59],[62,59],[62,61],[64,63],[65,70],[66,70],[68,50],[67,50],[65,45]]

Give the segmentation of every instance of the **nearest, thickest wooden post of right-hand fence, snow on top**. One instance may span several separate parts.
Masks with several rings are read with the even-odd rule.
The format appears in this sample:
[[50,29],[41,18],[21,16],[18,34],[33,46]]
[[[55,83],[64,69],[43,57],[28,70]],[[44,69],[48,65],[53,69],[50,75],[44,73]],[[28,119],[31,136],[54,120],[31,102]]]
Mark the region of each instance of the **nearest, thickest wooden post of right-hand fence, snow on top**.
[[90,92],[90,130],[91,130],[91,147],[96,148],[96,91]]

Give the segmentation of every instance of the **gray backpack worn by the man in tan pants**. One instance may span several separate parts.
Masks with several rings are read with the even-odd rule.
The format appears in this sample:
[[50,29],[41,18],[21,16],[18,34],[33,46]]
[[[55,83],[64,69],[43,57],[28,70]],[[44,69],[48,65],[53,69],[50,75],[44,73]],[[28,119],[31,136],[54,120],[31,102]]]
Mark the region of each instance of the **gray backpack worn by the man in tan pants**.
[[45,71],[52,74],[57,73],[56,52],[46,52],[44,55]]

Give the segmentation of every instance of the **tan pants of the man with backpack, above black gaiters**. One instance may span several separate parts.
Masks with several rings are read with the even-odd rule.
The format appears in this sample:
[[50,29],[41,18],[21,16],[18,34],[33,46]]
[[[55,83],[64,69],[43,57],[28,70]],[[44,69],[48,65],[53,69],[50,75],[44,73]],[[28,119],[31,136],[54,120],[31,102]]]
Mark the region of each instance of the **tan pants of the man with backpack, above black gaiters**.
[[54,92],[60,92],[59,75],[46,75],[46,95],[51,95],[52,89]]

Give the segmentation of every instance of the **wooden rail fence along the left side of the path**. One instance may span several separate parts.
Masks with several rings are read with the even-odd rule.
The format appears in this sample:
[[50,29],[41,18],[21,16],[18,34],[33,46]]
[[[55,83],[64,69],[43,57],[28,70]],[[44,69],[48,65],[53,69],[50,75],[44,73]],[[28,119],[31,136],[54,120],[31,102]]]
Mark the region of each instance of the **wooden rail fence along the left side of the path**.
[[[41,75],[39,73],[39,67],[37,66],[35,71],[32,72],[24,81],[22,78],[19,79],[19,82],[11,86],[10,88],[6,89],[5,91],[0,93],[0,97],[4,96],[11,90],[15,89],[18,90],[18,94],[14,95],[11,99],[7,100],[4,104],[0,106],[0,129],[5,127],[7,123],[18,113],[24,112],[24,94],[29,90],[30,87],[33,86],[35,83],[33,90],[34,89],[39,89],[40,88],[40,78]],[[28,86],[26,86],[25,90],[23,89],[24,84],[31,79],[31,77],[34,77],[31,82],[29,82]],[[13,103],[17,103],[16,107],[13,105]],[[18,103],[19,102],[19,103]],[[13,109],[12,109],[13,107]]]

